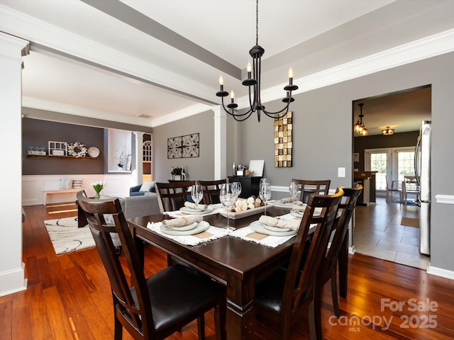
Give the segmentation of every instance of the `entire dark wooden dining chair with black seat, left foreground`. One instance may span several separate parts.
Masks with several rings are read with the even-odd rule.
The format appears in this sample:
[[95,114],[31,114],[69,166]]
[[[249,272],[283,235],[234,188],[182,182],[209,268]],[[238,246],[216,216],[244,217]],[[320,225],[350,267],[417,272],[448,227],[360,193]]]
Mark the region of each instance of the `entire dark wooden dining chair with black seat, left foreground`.
[[[216,339],[225,339],[225,288],[194,268],[178,264],[145,278],[118,198],[92,199],[79,191],[77,200],[111,284],[115,340],[122,339],[123,327],[136,340],[165,339],[194,319],[199,338],[204,339],[204,313],[213,308]],[[106,222],[106,215],[114,222]],[[113,235],[121,240],[126,269],[115,252]]]

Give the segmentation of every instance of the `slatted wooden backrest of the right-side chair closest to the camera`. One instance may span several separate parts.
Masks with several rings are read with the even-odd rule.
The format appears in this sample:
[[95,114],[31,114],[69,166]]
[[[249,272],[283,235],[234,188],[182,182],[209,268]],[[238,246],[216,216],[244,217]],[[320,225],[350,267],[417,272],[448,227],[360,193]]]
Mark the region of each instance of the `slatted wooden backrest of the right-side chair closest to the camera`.
[[[338,188],[333,195],[311,195],[309,197],[285,278],[280,315],[282,322],[292,323],[292,319],[297,319],[297,315],[301,312],[299,311],[300,302],[303,302],[306,297],[314,295],[319,264],[323,254],[326,253],[331,227],[336,219],[342,196],[343,190]],[[320,213],[319,210],[321,210]],[[313,227],[312,240],[310,243],[306,243],[309,228],[314,224],[316,226]],[[307,251],[304,250],[305,246],[309,246]],[[304,263],[301,263],[304,254],[307,254],[307,257]]]

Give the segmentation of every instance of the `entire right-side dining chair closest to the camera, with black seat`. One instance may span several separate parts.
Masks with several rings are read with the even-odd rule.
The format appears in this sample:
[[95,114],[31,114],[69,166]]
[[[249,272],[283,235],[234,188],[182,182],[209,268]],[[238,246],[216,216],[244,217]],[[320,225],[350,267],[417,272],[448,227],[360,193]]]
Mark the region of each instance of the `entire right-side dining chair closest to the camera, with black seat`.
[[[333,195],[309,196],[289,266],[279,268],[255,287],[253,301],[258,328],[275,324],[279,339],[289,339],[290,327],[307,315],[311,339],[316,339],[314,289],[317,272],[328,247],[331,226],[342,196],[342,188],[338,188]],[[309,229],[313,231],[314,237],[308,243]],[[304,251],[306,247],[309,247],[309,251]],[[305,253],[307,256],[304,260]]]

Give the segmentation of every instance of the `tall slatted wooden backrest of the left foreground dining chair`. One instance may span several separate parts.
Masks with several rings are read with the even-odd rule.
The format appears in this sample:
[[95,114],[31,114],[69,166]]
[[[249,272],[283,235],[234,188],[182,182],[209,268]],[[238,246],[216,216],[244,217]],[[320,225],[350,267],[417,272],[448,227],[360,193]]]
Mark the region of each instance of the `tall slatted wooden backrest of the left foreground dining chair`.
[[[128,331],[131,332],[133,329],[140,332],[140,335],[153,333],[153,314],[142,261],[121,210],[120,201],[118,198],[108,200],[87,198],[84,191],[77,193],[77,200],[87,217],[96,248],[109,276],[116,314],[121,314],[126,319],[127,322],[122,322],[123,325],[133,326],[129,327]],[[114,222],[106,222],[106,215],[111,216]],[[128,285],[126,273],[112,241],[112,237],[116,235],[121,241],[128,272],[131,275],[129,279],[131,286]],[[134,287],[132,291],[131,287]]]

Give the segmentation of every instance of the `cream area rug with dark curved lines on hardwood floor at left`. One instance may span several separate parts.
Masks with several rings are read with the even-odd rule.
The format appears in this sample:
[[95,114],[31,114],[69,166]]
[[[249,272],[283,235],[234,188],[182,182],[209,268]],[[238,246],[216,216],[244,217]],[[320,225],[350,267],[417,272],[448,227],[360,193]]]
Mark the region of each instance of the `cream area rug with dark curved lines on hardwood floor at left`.
[[47,220],[44,224],[57,254],[95,246],[89,227],[77,227],[77,217]]

